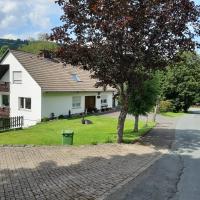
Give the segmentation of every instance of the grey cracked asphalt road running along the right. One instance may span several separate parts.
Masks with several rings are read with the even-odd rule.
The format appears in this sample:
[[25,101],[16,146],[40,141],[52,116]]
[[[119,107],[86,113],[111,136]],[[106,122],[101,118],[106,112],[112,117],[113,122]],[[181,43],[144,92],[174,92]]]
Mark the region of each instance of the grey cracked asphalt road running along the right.
[[107,200],[200,200],[200,110],[178,120],[169,154]]

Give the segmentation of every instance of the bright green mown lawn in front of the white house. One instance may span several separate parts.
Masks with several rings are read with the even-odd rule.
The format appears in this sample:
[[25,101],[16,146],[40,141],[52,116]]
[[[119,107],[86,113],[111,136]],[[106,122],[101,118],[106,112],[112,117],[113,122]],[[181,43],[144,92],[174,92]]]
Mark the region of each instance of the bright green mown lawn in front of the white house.
[[[100,144],[116,142],[117,119],[103,116],[87,117],[93,124],[83,125],[81,119],[63,119],[40,123],[31,128],[0,133],[0,144],[29,144],[29,145],[61,145],[62,130],[74,130],[74,145]],[[140,121],[139,133],[133,133],[133,121],[126,120],[124,141],[130,143],[155,126],[148,126]]]

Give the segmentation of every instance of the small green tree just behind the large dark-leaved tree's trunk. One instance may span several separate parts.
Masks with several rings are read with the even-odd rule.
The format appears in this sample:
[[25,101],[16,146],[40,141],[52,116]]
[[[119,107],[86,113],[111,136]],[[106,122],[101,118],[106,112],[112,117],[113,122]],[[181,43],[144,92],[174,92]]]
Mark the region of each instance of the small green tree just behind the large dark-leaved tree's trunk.
[[129,98],[128,113],[135,116],[134,132],[138,132],[139,115],[146,115],[156,105],[160,92],[158,76],[146,80],[138,89],[133,89]]

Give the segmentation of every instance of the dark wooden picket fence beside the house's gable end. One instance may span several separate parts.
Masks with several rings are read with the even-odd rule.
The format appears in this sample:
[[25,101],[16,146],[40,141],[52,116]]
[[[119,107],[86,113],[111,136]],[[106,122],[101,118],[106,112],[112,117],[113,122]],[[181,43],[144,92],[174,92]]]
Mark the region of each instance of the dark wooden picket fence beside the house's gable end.
[[24,125],[24,117],[21,116],[0,118],[0,131],[22,128],[23,125]]

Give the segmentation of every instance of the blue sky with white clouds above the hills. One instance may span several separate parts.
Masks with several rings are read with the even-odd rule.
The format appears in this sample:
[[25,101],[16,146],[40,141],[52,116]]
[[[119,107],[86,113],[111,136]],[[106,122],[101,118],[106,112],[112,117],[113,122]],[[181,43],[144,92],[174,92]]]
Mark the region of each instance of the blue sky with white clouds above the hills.
[[59,26],[61,15],[55,0],[0,0],[0,38],[37,38]]

